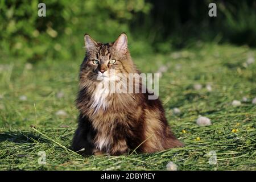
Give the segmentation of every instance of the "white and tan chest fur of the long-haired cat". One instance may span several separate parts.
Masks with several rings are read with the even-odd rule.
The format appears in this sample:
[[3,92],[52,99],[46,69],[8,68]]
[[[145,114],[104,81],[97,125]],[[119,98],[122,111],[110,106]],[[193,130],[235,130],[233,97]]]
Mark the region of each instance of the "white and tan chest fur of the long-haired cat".
[[[90,115],[92,126],[97,133],[94,144],[100,151],[109,152],[115,141],[115,135],[129,121],[129,109],[134,105],[134,98],[127,94],[110,93],[110,89],[97,86],[92,95],[92,105],[94,110]],[[122,144],[125,142],[122,142]]]

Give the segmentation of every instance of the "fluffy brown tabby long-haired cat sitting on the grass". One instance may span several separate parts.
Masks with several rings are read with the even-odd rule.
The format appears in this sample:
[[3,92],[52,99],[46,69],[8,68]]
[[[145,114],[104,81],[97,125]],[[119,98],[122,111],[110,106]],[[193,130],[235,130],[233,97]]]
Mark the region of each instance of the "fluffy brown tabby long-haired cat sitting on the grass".
[[139,74],[127,48],[126,34],[113,43],[95,42],[87,34],[84,40],[86,56],[80,67],[76,100],[79,125],[72,150],[82,155],[121,155],[183,146],[172,134],[161,102],[148,100],[150,93],[109,93],[98,86],[98,77],[110,79],[110,69],[124,75]]

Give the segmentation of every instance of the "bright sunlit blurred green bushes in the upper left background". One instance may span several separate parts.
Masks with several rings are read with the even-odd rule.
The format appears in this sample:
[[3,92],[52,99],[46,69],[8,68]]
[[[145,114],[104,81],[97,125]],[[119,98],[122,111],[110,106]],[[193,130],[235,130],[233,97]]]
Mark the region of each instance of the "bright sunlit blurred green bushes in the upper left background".
[[1,1],[3,53],[28,61],[48,56],[72,59],[84,51],[85,32],[103,42],[114,41],[121,32],[129,34],[128,21],[134,14],[148,13],[151,7],[144,0],[52,0],[44,1],[46,17],[39,17],[39,3],[38,0]]

